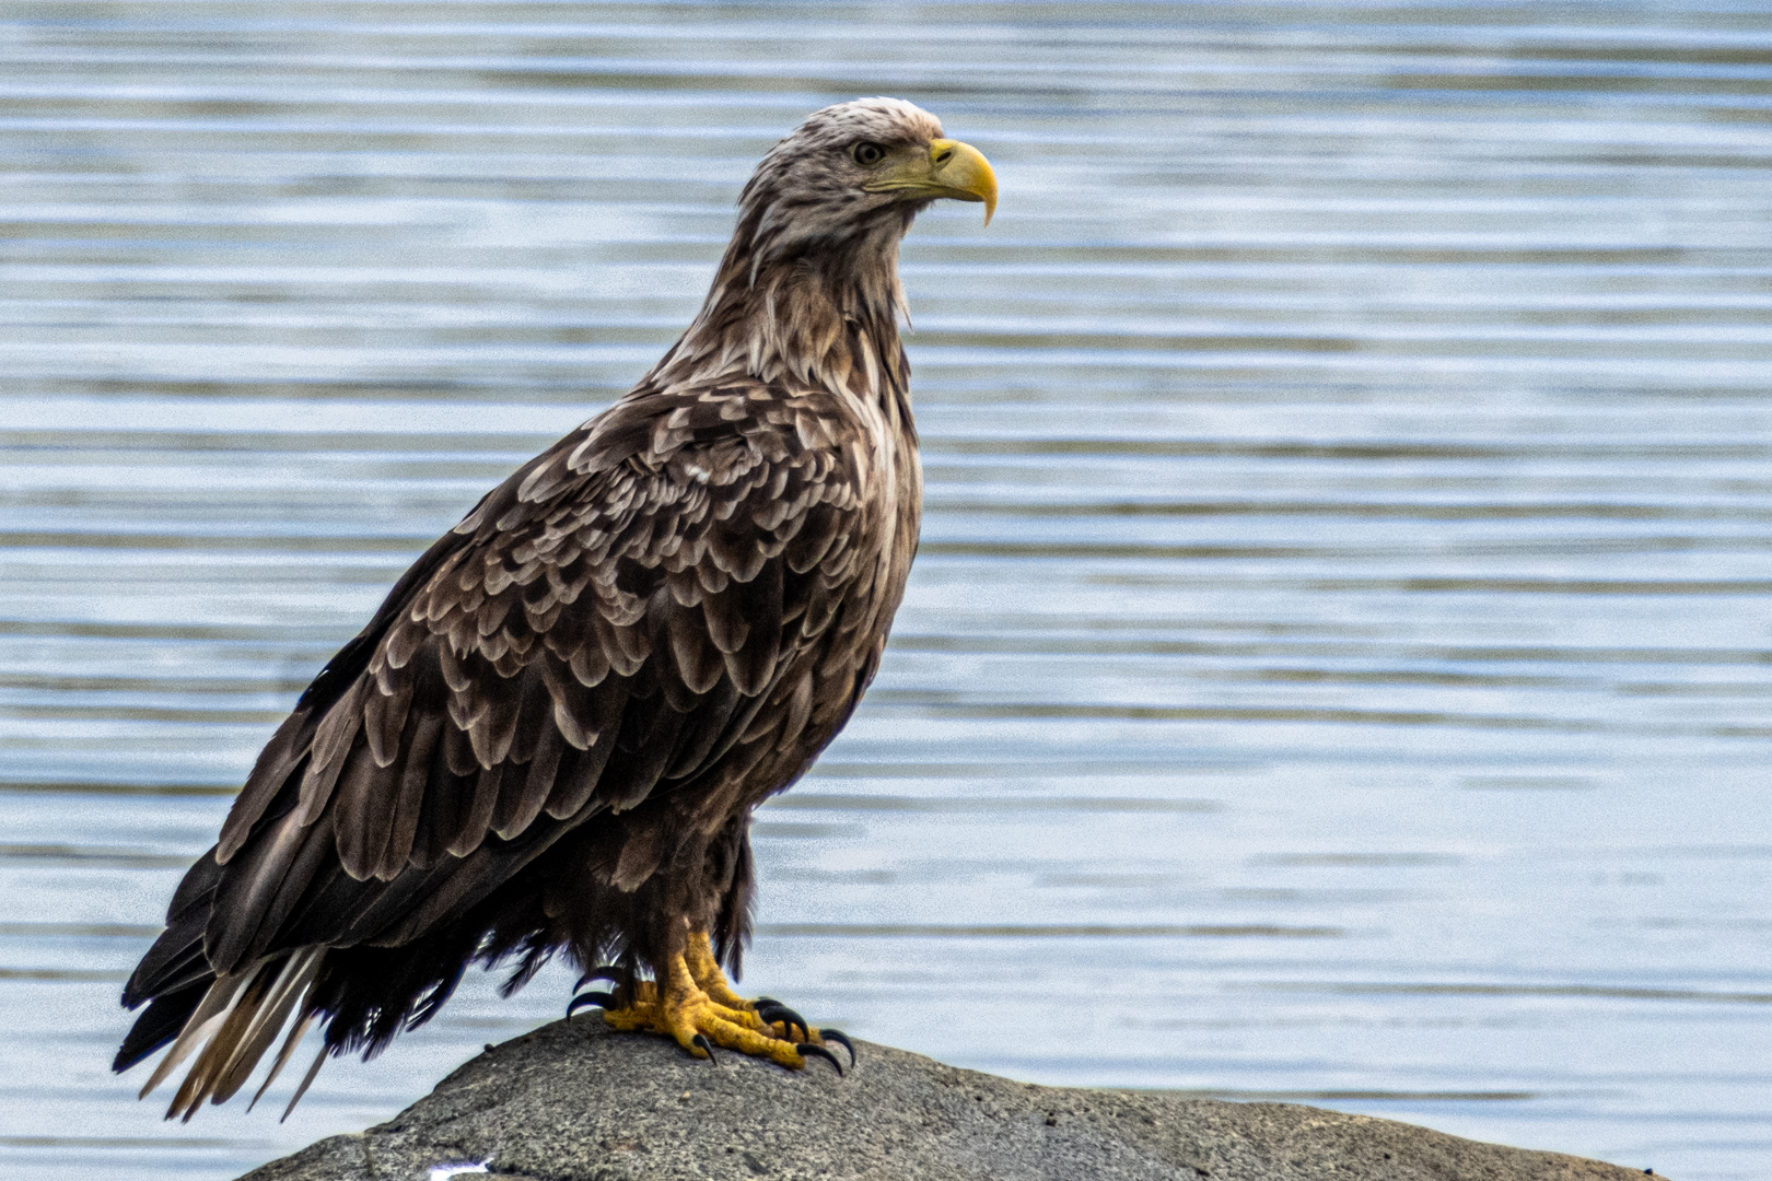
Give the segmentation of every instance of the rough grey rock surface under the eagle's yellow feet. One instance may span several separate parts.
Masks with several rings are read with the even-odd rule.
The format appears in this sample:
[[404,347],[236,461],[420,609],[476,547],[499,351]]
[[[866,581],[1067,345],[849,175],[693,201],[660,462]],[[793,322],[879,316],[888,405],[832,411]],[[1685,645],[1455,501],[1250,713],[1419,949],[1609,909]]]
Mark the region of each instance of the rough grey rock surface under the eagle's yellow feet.
[[1313,1107],[1035,1087],[856,1050],[843,1078],[735,1054],[711,1066],[659,1038],[610,1034],[592,1013],[491,1048],[393,1121],[241,1181],[424,1181],[434,1165],[487,1160],[489,1181],[1643,1177]]

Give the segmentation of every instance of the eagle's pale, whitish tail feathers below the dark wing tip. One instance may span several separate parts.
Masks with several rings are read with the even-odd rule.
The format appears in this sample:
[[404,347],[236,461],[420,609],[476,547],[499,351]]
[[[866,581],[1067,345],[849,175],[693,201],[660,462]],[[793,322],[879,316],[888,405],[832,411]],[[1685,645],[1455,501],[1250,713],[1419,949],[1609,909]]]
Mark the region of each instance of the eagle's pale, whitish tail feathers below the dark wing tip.
[[[184,1082],[179,1084],[177,1094],[172,1096],[167,1119],[181,1117],[188,1121],[197,1114],[204,1100],[225,1103],[246,1084],[259,1059],[271,1048],[271,1041],[289,1023],[291,1015],[296,1015],[282,1050],[278,1050],[276,1059],[271,1062],[271,1073],[257,1094],[252,1096],[252,1101],[257,1103],[266,1087],[282,1073],[289,1062],[289,1055],[294,1054],[296,1045],[301,1043],[314,1018],[319,1016],[305,1002],[308,986],[314,983],[324,956],[326,947],[323,946],[299,947],[262,960],[241,972],[213,977],[202,999],[195,1002],[190,1016],[184,1018],[177,1038],[172,1039],[167,1057],[159,1061],[147,1084],[142,1085],[142,1098],[147,1098],[154,1087],[165,1082],[184,1059],[197,1054],[197,1061],[184,1073]],[[197,988],[186,992],[195,995]],[[165,1000],[172,1000],[172,997],[165,997]],[[152,1007],[142,1015],[142,1023],[151,1016],[154,1016]],[[135,1032],[131,1032],[131,1038],[135,1038]],[[122,1055],[119,1055],[120,1059]],[[285,1119],[296,1108],[296,1103],[301,1101],[301,1096],[307,1094],[324,1061],[326,1046],[321,1046],[319,1057],[314,1059],[314,1066],[308,1068],[307,1077],[296,1089],[296,1096],[284,1110]]]

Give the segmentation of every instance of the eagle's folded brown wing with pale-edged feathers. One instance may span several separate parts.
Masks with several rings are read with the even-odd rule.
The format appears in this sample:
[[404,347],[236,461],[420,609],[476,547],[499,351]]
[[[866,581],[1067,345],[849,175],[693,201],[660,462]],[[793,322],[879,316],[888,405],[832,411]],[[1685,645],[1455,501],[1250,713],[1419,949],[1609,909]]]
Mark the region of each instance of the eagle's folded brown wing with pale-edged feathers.
[[785,671],[861,625],[872,462],[831,395],[737,384],[634,397],[526,464],[303,694],[126,1002],[404,944],[661,783],[826,740],[877,653],[829,699]]

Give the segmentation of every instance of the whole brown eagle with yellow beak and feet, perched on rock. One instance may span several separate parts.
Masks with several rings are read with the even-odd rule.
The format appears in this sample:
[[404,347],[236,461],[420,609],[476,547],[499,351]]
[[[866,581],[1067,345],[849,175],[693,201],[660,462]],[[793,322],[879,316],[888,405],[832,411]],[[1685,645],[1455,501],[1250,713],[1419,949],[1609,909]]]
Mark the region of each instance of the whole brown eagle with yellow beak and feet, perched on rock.
[[[757,165],[707,299],[640,382],[523,464],[388,591],[259,754],[122,1004],[113,1068],[190,1061],[167,1117],[264,1094],[310,1027],[383,1050],[468,965],[563,954],[618,1030],[790,1069],[838,1030],[746,1000],[751,814],[879,669],[921,521],[898,246],[996,209],[902,99]],[[287,1032],[285,1032],[287,1030]],[[195,1057],[193,1057],[195,1055]]]

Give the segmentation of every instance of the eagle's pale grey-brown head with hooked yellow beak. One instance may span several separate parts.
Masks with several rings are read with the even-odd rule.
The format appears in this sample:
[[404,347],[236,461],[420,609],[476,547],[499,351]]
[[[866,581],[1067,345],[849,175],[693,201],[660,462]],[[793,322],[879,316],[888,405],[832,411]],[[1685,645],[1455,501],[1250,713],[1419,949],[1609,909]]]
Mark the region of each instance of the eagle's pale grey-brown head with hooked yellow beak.
[[939,197],[996,211],[996,174],[941,120],[904,99],[856,99],[813,112],[776,143],[739,198],[751,262],[891,250]]

